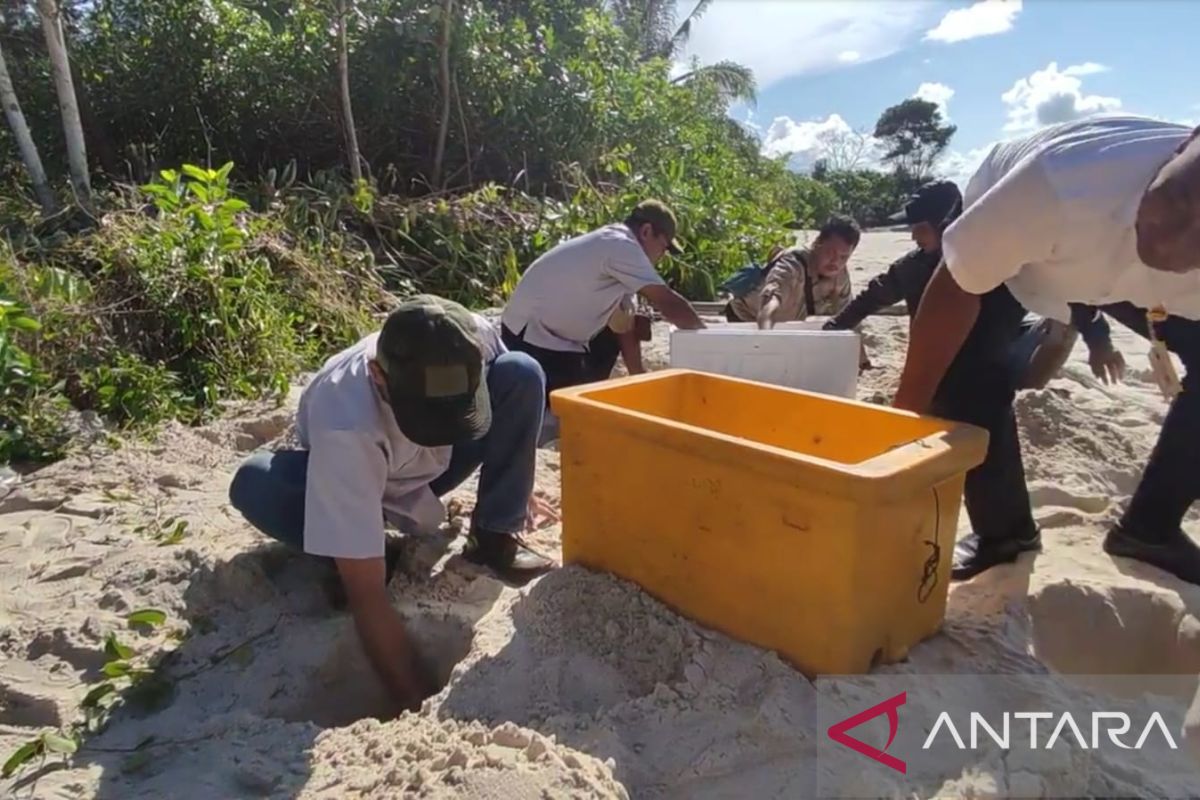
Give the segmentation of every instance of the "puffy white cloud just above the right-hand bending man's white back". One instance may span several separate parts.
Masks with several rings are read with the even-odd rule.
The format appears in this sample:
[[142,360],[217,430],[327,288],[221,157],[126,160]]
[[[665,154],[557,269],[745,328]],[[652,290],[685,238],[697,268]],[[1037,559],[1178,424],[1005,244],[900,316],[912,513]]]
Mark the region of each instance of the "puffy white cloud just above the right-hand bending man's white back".
[[1021,133],[1034,131],[1055,122],[1068,122],[1093,114],[1115,112],[1121,108],[1118,97],[1087,95],[1081,76],[1104,72],[1106,67],[1088,61],[1058,70],[1051,61],[1045,70],[1038,70],[1027,78],[1020,78],[1013,88],[1001,95],[1008,106],[1008,122],[1004,131]]

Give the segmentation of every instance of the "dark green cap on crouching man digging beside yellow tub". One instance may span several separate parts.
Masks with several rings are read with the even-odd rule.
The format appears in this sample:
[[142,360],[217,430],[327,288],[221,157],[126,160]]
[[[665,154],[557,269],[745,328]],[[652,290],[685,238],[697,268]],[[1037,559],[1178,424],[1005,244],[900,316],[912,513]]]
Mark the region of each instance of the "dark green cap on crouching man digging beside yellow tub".
[[384,323],[376,362],[400,432],[422,447],[481,439],[492,426],[484,345],[475,317],[456,302],[416,295]]

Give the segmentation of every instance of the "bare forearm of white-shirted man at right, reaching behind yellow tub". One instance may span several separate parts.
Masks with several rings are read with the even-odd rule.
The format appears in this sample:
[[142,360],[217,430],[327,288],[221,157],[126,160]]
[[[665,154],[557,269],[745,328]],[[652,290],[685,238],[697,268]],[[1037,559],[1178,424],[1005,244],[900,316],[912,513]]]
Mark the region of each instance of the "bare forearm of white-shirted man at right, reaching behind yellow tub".
[[893,405],[924,414],[979,317],[979,296],[965,291],[943,263],[917,308]]

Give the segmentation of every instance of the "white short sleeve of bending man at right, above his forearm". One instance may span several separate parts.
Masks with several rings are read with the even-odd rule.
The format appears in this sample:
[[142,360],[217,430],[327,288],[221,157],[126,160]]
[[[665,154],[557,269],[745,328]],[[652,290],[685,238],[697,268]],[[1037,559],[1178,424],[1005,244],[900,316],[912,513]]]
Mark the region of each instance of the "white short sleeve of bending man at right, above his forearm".
[[962,211],[942,236],[954,281],[985,294],[1015,277],[1026,264],[1054,255],[1062,210],[1042,163],[1015,167]]

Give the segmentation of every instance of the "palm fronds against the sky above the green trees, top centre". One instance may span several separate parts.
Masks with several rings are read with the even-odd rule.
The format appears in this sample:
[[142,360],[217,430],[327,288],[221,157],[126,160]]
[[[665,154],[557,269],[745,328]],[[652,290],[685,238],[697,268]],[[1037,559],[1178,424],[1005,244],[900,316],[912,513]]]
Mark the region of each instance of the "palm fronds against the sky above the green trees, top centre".
[[[617,24],[637,42],[643,61],[670,60],[683,50],[691,36],[691,26],[712,4],[713,0],[698,0],[679,24],[676,24],[674,0],[612,0],[612,10]],[[685,84],[692,80],[713,82],[726,102],[754,102],[757,89],[750,67],[733,61],[694,66],[671,83]]]

